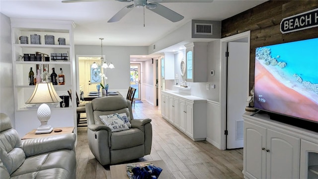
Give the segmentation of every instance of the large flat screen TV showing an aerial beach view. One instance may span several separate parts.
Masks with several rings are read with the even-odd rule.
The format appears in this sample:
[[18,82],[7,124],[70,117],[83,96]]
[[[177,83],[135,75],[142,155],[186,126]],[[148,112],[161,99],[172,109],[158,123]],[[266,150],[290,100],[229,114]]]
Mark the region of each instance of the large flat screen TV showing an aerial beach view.
[[255,49],[254,108],[318,132],[318,38]]

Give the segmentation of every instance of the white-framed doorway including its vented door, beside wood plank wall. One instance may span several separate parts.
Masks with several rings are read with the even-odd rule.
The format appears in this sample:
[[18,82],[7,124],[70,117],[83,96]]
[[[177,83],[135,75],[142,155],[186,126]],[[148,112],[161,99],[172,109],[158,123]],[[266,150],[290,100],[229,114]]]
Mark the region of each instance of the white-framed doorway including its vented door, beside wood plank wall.
[[[232,42],[243,42],[243,49],[237,53],[240,47]],[[230,47],[228,52],[229,44],[234,44],[234,47]],[[243,147],[242,114],[249,95],[249,47],[250,31],[221,39],[221,150]],[[233,60],[231,56],[234,57]],[[240,63],[238,67],[237,63]]]

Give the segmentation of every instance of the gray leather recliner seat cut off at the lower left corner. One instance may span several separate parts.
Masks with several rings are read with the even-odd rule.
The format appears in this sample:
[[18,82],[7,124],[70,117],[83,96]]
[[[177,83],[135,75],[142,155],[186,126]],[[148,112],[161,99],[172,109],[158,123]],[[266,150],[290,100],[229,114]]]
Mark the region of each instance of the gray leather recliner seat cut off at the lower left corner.
[[1,179],[76,179],[76,134],[21,140],[0,113]]

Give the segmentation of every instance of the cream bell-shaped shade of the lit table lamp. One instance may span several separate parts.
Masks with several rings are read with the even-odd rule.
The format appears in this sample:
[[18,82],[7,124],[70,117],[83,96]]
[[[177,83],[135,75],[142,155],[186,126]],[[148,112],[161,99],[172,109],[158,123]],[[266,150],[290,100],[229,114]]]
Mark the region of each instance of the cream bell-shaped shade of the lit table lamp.
[[33,94],[25,103],[55,103],[61,101],[62,99],[56,93],[52,83],[37,83]]

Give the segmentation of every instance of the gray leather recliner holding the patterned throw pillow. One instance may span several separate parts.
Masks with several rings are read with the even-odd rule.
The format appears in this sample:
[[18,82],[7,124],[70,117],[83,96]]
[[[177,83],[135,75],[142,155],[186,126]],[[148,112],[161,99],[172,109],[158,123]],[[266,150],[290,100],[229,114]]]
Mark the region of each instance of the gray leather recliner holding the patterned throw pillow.
[[[86,103],[87,138],[90,151],[101,165],[118,164],[150,154],[151,119],[134,119],[131,101],[121,96],[99,97]],[[99,116],[126,113],[129,130],[112,132]]]

